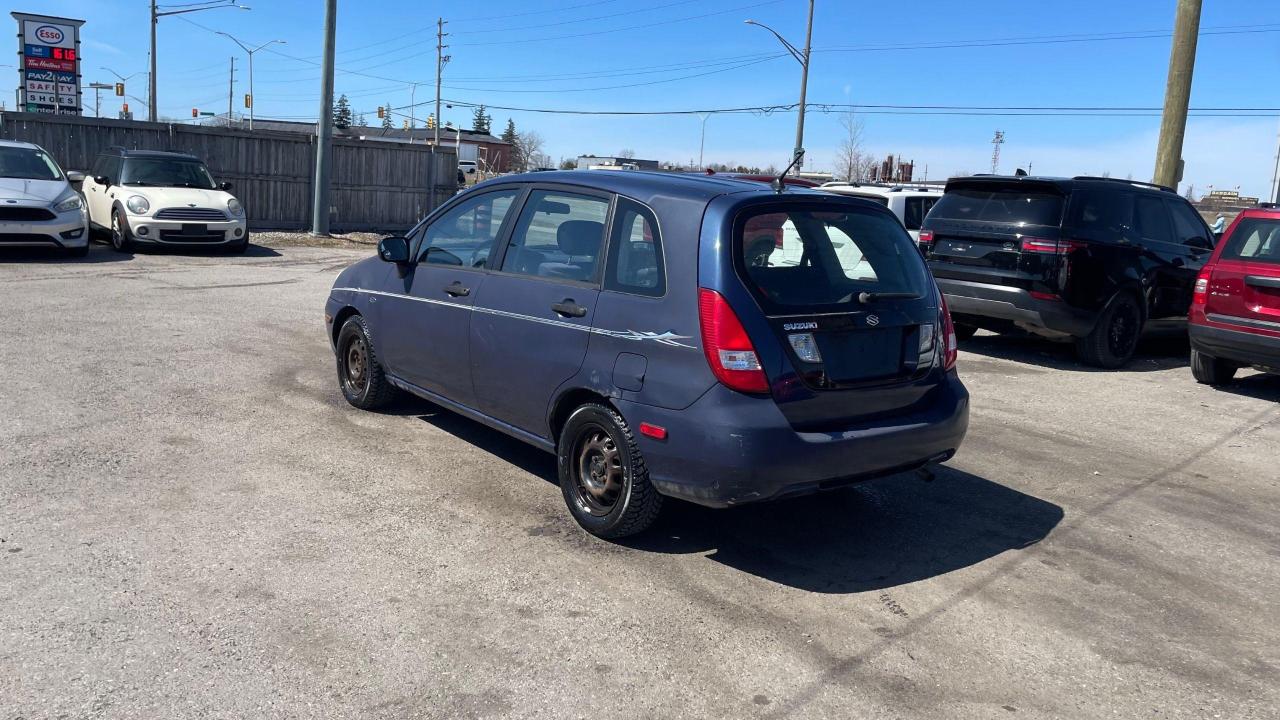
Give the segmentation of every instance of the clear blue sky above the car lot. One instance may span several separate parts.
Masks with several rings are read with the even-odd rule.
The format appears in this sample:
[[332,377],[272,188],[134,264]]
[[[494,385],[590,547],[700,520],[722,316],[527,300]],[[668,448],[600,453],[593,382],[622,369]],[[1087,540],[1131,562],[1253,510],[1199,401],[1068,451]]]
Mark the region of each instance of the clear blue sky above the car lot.
[[[193,0],[172,0],[191,5]],[[324,1],[241,0],[248,12],[216,9],[163,18],[159,28],[161,115],[225,113],[229,59],[237,56],[237,111],[248,91],[246,56],[215,31],[250,46],[284,40],[255,55],[257,117],[315,119],[319,113]],[[147,65],[147,0],[40,0],[13,10],[87,20],[84,83],[114,82]],[[1175,0],[817,0],[806,169],[831,170],[847,108],[860,105],[861,146],[916,163],[916,177],[991,170],[992,136],[1005,133],[1000,170],[1102,174],[1149,179],[1169,68]],[[1181,188],[1270,192],[1280,132],[1280,0],[1207,0],[1192,87]],[[419,123],[431,111],[435,19],[448,24],[442,95],[490,106],[495,132],[513,119],[534,131],[553,159],[611,155],[696,163],[705,127],[707,163],[785,165],[796,114],[584,115],[581,111],[705,110],[795,104],[800,65],[765,29],[803,45],[805,0],[338,0],[335,88],[376,123],[376,108]],[[419,83],[411,91],[411,83]],[[143,76],[128,83],[145,99]],[[86,104],[91,105],[91,96]],[[114,115],[118,99],[104,97]],[[136,114],[142,102],[131,100]],[[1126,115],[1016,115],[965,108],[1137,108]],[[511,108],[511,109],[499,109]],[[532,113],[530,109],[571,113]],[[957,113],[948,110],[948,113]],[[1213,117],[1226,115],[1226,117]],[[1247,117],[1239,117],[1247,115]],[[397,123],[402,115],[397,114]],[[468,127],[471,109],[445,109]]]

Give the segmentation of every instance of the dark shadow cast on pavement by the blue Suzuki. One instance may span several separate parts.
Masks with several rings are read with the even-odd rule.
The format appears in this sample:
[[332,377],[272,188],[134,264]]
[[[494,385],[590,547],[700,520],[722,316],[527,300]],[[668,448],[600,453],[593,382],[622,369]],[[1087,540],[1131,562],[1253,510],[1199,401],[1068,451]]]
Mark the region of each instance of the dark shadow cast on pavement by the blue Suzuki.
[[[550,454],[430,402],[413,415],[558,484]],[[942,466],[932,482],[900,474],[820,495],[712,510],[668,500],[649,532],[618,544],[708,560],[822,593],[891,588],[989,560],[1043,539],[1062,509],[986,478]],[[564,523],[573,523],[564,511]]]

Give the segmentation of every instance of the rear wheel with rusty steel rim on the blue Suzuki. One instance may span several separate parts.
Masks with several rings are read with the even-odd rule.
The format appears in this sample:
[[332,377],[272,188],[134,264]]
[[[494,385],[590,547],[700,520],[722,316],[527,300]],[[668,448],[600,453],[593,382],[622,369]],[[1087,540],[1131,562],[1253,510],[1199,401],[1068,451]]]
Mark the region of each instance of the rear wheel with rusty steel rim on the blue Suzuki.
[[635,434],[612,407],[589,404],[575,410],[556,457],[564,503],[584,530],[622,538],[658,519],[662,496],[649,483]]

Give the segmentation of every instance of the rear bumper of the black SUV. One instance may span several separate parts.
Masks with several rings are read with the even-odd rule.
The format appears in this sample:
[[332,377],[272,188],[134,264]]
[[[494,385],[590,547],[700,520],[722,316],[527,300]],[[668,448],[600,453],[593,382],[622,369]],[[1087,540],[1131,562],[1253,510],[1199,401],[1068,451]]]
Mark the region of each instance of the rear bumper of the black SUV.
[[1065,302],[1038,300],[1018,287],[936,278],[956,315],[977,315],[1009,320],[1032,328],[1084,337],[1093,331],[1097,315],[1076,310]]

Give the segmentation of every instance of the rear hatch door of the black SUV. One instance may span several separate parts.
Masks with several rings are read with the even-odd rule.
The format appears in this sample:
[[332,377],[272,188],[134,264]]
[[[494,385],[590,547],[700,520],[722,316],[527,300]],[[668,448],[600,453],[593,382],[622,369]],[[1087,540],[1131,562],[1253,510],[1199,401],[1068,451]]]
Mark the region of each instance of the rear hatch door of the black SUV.
[[924,223],[933,232],[929,269],[938,278],[1029,290],[1057,272],[1065,206],[1066,195],[1051,182],[952,181]]

